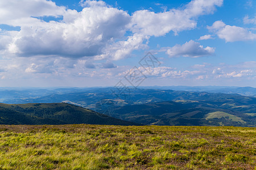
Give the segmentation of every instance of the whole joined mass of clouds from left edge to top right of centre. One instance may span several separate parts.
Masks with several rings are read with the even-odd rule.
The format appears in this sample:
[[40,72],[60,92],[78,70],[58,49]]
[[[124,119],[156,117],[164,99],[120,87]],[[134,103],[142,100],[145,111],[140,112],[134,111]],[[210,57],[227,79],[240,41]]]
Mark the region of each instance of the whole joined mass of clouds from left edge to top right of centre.
[[[211,14],[222,0],[193,0],[184,8],[139,10],[133,15],[104,1],[80,1],[80,5],[84,8],[78,12],[46,0],[1,1],[0,24],[19,26],[20,31],[0,35],[0,50],[21,57],[122,59],[133,50],[146,49],[150,36],[195,28],[196,18]],[[60,20],[46,22],[45,16]]]

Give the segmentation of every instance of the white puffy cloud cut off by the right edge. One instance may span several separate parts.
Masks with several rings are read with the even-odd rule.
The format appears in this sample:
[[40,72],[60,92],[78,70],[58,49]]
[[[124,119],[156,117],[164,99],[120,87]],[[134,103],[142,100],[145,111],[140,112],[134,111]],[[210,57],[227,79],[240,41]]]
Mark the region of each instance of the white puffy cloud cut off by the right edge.
[[256,34],[248,29],[235,25],[226,25],[220,20],[214,22],[212,26],[208,26],[207,28],[226,42],[256,40]]

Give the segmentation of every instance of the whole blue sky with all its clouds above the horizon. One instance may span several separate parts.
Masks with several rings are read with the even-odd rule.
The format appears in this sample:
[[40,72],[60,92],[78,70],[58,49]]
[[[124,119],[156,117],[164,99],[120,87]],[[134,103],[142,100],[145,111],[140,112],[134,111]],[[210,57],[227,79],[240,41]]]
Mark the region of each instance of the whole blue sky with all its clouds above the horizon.
[[0,87],[256,87],[256,1],[0,1]]

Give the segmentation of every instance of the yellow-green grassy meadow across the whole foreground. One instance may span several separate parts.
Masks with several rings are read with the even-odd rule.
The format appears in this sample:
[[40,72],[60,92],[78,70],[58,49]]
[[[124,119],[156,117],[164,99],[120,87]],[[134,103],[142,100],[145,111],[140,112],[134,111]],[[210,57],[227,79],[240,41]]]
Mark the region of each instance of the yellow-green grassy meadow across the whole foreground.
[[255,168],[255,128],[0,125],[0,169]]

